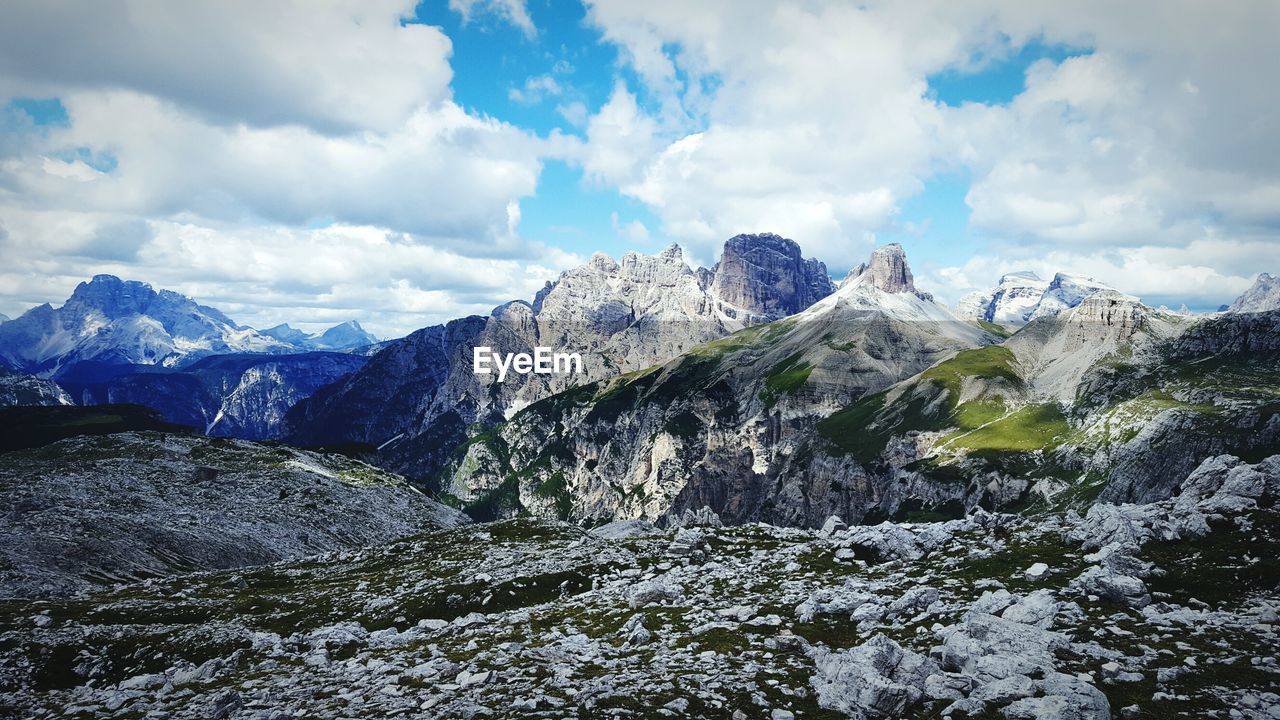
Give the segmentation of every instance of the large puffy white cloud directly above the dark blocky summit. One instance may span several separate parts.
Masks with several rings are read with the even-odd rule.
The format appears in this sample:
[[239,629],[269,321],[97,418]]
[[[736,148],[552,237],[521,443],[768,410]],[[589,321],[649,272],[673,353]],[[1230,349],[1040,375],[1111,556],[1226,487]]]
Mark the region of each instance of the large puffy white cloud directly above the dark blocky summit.
[[617,88],[588,123],[586,168],[695,252],[774,231],[852,264],[932,170],[940,114],[924,97],[928,60],[891,17],[852,5],[602,1],[590,18],[623,46],[655,105],[646,113]]

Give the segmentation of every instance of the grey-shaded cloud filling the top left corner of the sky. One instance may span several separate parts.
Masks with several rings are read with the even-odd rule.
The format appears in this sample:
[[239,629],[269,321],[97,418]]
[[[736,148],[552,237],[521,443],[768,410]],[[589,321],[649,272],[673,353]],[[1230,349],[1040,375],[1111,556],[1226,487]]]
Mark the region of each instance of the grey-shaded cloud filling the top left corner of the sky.
[[452,45],[412,0],[5,3],[0,97],[118,88],[216,123],[387,131],[451,96]]

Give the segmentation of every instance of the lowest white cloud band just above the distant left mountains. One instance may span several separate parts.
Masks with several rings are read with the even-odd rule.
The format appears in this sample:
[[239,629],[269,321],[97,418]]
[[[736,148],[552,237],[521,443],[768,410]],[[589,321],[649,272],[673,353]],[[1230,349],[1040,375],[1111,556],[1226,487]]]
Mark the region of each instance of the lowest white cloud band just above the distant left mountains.
[[[495,299],[531,299],[582,261],[547,247],[526,260],[474,258],[369,225],[216,227],[60,210],[10,210],[6,223],[12,232],[0,234],[0,252],[26,258],[0,269],[0,311],[13,316],[38,302],[56,305],[95,273],[114,273],[177,290],[259,328],[356,318],[394,337],[486,314]],[[101,232],[136,233],[133,252],[95,255]]]

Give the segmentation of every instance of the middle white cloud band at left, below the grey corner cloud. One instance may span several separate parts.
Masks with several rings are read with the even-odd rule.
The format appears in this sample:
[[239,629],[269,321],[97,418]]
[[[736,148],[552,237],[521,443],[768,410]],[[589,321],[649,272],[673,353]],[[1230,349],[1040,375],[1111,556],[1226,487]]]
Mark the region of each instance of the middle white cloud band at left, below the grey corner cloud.
[[[375,224],[488,255],[518,255],[507,206],[536,188],[552,147],[453,102],[421,108],[388,133],[325,136],[297,127],[206,123],[134,92],[63,99],[70,127],[0,164],[0,202],[142,217]],[[49,160],[105,149],[110,173]],[[484,245],[479,245],[483,241]]]

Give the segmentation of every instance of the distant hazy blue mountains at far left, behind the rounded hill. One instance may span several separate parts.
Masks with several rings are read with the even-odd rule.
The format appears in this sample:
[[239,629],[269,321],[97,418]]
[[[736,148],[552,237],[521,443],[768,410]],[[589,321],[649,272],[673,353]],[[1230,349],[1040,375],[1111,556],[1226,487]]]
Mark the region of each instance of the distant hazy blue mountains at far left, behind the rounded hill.
[[60,307],[0,324],[0,402],[138,404],[207,434],[269,438],[293,404],[378,347],[355,320],[259,332],[177,292],[96,275]]

